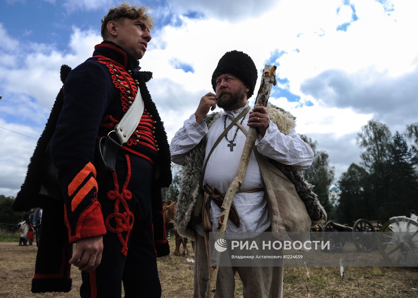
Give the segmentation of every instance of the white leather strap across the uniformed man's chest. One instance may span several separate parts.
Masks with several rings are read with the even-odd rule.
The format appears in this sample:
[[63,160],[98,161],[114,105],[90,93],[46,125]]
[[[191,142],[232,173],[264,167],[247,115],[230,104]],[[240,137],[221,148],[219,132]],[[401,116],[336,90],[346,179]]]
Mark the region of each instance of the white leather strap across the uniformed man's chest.
[[126,111],[125,115],[123,115],[119,123],[115,126],[115,134],[120,144],[126,143],[126,141],[133,134],[136,127],[138,127],[143,112],[144,101],[138,87],[138,91],[136,92],[135,99],[133,100],[131,106]]

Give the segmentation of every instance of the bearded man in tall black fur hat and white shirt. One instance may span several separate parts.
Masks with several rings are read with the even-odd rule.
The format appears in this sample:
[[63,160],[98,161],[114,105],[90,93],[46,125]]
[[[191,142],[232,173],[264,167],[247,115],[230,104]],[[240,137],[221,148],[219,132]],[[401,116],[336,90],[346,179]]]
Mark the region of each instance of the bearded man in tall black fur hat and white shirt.
[[[254,93],[256,81],[257,68],[250,56],[240,51],[225,53],[212,74],[212,87],[216,94],[209,92],[201,98],[196,112],[184,122],[171,140],[172,161],[184,165],[175,226],[180,234],[196,240],[194,298],[205,297],[208,279],[208,257],[204,240],[204,232],[208,230],[208,225],[205,224],[207,221],[202,220],[199,224],[191,222],[195,205],[199,204],[196,203],[199,188],[203,185],[209,186],[205,188],[206,193],[215,188],[218,194],[227,191],[240,163],[246,140],[244,133],[237,126],[233,126],[213,149],[219,135],[235,117],[245,114],[237,123],[257,129],[255,148],[264,158],[292,166],[294,171],[309,168],[314,158],[311,147],[294,130],[294,117],[289,113],[270,104],[267,109],[255,107],[246,112],[250,110],[248,98]],[[223,108],[224,112],[208,115],[209,110],[214,110],[216,106]],[[280,117],[275,117],[274,123],[270,120],[269,113],[279,115],[282,121],[277,121]],[[287,129],[283,128],[283,122],[286,121],[292,123]],[[280,131],[277,124],[283,131]],[[202,166],[211,149],[213,152],[206,164],[203,183],[199,185]],[[216,232],[220,205],[219,199],[215,197],[219,195],[208,195],[210,214],[207,217],[211,222],[209,230]],[[240,191],[234,197],[235,210],[231,212],[236,213],[236,218],[228,221],[225,238],[250,239],[270,230],[267,203],[263,177],[253,152]],[[323,220],[324,213],[321,216]],[[283,267],[219,267],[217,298],[234,297],[236,272],[242,280],[245,298],[281,297]]]

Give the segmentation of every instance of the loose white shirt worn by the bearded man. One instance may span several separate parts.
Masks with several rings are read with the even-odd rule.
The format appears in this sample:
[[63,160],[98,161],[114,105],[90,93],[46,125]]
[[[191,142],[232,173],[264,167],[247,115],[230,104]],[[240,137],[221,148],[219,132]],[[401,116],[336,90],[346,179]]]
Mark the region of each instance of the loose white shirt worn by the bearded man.
[[[212,149],[214,143],[219,135],[221,135],[224,131],[225,115],[229,115],[234,118],[239,115],[240,112],[247,107],[247,105],[248,103],[238,110],[224,112],[222,116],[211,126],[209,131],[206,123],[202,121],[199,125],[196,122],[196,116],[192,114],[171,140],[171,160],[174,163],[182,165],[186,154],[199,144],[201,139],[206,136],[205,163],[207,155]],[[242,122],[244,127],[248,127],[248,117],[249,114],[247,113]],[[241,120],[239,121],[241,122]],[[228,126],[231,122],[232,120],[227,117],[226,126]],[[227,133],[228,140],[234,139],[236,129],[237,126],[234,126],[231,130],[229,130]],[[230,147],[228,147],[229,142],[227,142],[225,138],[221,140],[209,158],[205,171],[204,184],[207,183],[212,189],[217,188],[222,193],[225,193],[228,190],[229,185],[237,172],[245,140],[246,137],[244,133],[241,130],[238,130],[237,137],[234,140],[234,144],[236,144],[236,146],[233,147],[232,152],[230,151]],[[293,165],[294,168],[298,170],[305,170],[309,168],[314,158],[314,152],[311,147],[301,140],[295,130],[292,130],[290,135],[284,135],[271,121],[264,137],[262,138],[261,135],[257,136],[255,148],[257,148],[258,152],[261,154],[286,165]],[[244,190],[248,188],[264,188],[260,168],[253,152],[251,153],[247,172],[240,189]],[[225,232],[226,239],[253,238],[264,232],[270,226],[270,217],[268,214],[267,200],[265,199],[264,191],[250,194],[238,193],[234,197],[233,204],[240,216],[240,227],[238,228],[234,223],[228,221]],[[211,201],[210,214],[212,220],[212,231],[216,232],[216,225],[219,219],[220,211],[219,206],[217,206],[214,201]],[[195,229],[201,236],[203,236],[203,227],[201,224],[197,225]]]

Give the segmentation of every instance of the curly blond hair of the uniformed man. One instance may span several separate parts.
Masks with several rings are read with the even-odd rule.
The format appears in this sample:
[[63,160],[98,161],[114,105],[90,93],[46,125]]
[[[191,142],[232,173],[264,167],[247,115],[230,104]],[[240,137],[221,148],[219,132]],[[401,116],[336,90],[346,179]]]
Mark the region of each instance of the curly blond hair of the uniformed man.
[[147,6],[138,7],[136,5],[129,5],[128,3],[123,3],[121,5],[116,5],[115,8],[110,8],[107,15],[103,17],[102,20],[102,34],[103,40],[107,38],[107,23],[114,20],[120,20],[122,18],[128,18],[135,20],[137,18],[142,18],[147,23],[150,30],[154,28],[154,19],[149,14]]

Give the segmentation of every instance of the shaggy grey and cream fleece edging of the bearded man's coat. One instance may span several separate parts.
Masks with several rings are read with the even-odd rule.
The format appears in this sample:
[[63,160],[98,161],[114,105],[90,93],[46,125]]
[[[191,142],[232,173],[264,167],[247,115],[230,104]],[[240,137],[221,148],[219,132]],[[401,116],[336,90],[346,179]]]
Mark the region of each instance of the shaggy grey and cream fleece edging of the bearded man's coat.
[[[278,129],[283,134],[289,135],[291,130],[296,127],[296,117],[282,108],[269,103],[267,105],[267,111],[270,116],[270,120],[277,125]],[[221,115],[222,112],[214,112],[210,115],[206,115],[204,121],[206,122],[208,129],[210,129],[212,124],[218,120]],[[196,147],[194,147],[186,156],[181,176],[181,188],[178,195],[176,216],[174,219],[174,226],[177,232],[181,235],[189,237],[192,240],[195,237],[195,231],[192,229],[189,222],[196,204],[199,187],[201,187],[199,185],[199,180],[203,167],[205,150],[206,138],[202,138],[200,143],[196,145]],[[293,183],[298,196],[306,207],[306,211],[311,219],[311,225],[314,226],[315,224],[325,223],[326,212],[319,203],[317,195],[312,191],[314,186],[305,181],[301,173],[295,170],[292,166],[287,166],[271,159],[268,161],[271,165],[283,173],[283,178],[287,178],[288,181]],[[280,214],[280,211],[271,209],[270,203],[271,202],[268,202],[270,217]],[[278,220],[279,219],[277,218],[270,218],[271,222]]]

